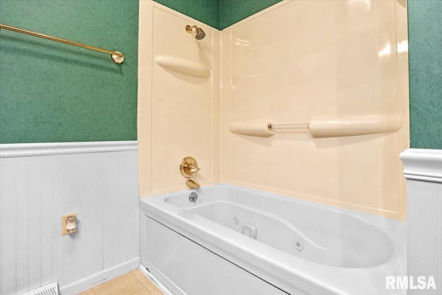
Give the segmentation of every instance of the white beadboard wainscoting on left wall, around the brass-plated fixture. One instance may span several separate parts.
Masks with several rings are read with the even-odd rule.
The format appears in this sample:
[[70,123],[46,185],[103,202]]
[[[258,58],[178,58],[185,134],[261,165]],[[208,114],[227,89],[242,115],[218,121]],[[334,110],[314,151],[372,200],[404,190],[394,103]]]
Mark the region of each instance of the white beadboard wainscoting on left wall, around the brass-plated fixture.
[[[1,144],[0,294],[56,280],[69,294],[119,275],[106,269],[135,269],[137,182],[136,142]],[[73,212],[77,232],[61,236],[61,216]]]

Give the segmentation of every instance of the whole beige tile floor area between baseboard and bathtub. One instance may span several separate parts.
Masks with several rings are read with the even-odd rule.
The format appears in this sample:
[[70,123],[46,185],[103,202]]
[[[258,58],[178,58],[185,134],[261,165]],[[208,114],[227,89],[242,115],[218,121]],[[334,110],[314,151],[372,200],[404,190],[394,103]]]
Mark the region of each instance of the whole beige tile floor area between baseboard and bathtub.
[[79,295],[164,295],[164,293],[146,278],[140,269],[135,269]]

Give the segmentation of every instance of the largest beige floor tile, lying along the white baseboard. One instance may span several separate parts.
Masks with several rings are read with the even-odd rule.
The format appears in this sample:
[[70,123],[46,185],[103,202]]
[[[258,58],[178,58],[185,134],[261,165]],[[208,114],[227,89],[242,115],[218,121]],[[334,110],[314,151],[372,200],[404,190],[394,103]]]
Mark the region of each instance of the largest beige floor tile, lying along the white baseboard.
[[142,288],[142,283],[129,272],[102,285],[93,287],[93,291],[96,295],[123,295],[132,294]]

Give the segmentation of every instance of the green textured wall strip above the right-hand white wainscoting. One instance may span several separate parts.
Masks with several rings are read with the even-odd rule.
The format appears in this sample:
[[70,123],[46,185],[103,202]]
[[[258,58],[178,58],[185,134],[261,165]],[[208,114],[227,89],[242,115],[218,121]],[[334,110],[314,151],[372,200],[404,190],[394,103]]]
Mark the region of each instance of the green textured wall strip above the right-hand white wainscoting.
[[442,1],[408,1],[410,137],[415,149],[442,149]]

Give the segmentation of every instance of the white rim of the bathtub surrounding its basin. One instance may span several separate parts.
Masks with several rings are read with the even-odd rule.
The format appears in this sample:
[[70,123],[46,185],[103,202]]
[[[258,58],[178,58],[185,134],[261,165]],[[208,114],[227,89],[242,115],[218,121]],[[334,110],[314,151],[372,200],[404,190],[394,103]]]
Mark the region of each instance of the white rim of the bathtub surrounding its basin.
[[[258,193],[266,197],[270,196],[273,198],[282,198],[283,200],[292,200],[294,198],[287,196],[280,196],[273,193],[267,193],[263,191],[258,191],[255,189],[249,189],[244,187],[239,187],[232,184],[211,184],[204,188],[231,188],[231,189],[241,189],[251,193]],[[360,292],[360,289],[352,289],[347,287],[336,287],[345,286],[349,281],[358,281],[364,278],[369,278],[371,276],[376,276],[379,272],[381,273],[392,273],[391,263],[395,260],[400,260],[405,262],[396,271],[400,271],[401,275],[406,274],[406,245],[402,244],[403,247],[398,251],[394,251],[392,257],[387,260],[386,263],[381,265],[376,265],[374,267],[366,268],[343,268],[330,265],[323,265],[320,263],[315,263],[309,260],[304,260],[302,258],[297,258],[292,256],[291,262],[297,267],[292,267],[282,263],[286,261],[289,254],[282,252],[282,256],[274,251],[273,247],[268,245],[253,245],[252,240],[245,236],[236,236],[236,231],[232,231],[216,222],[197,216],[195,220],[189,220],[189,218],[184,218],[180,216],[180,213],[184,211],[182,208],[175,207],[169,202],[165,202],[164,199],[171,196],[179,196],[183,193],[189,193],[193,190],[182,190],[173,193],[163,193],[157,196],[151,196],[148,198],[143,198],[140,200],[141,214],[146,214],[149,218],[160,222],[162,225],[169,227],[169,229],[176,231],[177,233],[189,238],[198,245],[213,251],[213,253],[222,256],[229,262],[238,265],[239,267],[246,269],[248,272],[255,274],[256,276],[266,280],[271,285],[276,285],[287,292],[290,290],[290,286],[296,286],[299,288],[302,285],[302,289],[306,292],[311,292],[312,294],[355,294],[354,292]],[[183,198],[185,198],[183,196]],[[336,207],[327,206],[324,204],[317,204],[314,202],[306,200],[294,199],[293,202],[300,202],[301,204],[313,205],[315,207],[320,207],[322,209],[329,209],[333,211],[338,211],[339,213],[349,213],[354,215],[354,211],[348,209],[340,209]],[[390,218],[385,218],[381,216],[372,216],[367,213],[356,212],[360,216],[365,216],[367,218],[372,218],[376,220],[383,220],[382,224],[387,223],[395,225],[400,231],[396,233],[396,236],[402,236],[402,240],[406,241],[406,227],[405,222],[401,220],[392,220]],[[204,222],[204,226],[201,223]],[[230,232],[229,232],[230,231]],[[232,237],[232,234],[233,235]],[[389,232],[389,234],[392,234]],[[393,233],[394,234],[394,233]],[[253,242],[252,242],[253,241]],[[396,245],[395,245],[396,246]],[[394,247],[396,250],[396,247]],[[276,252],[276,253],[275,253]],[[264,253],[264,254],[262,254]],[[405,258],[405,260],[403,259]],[[319,266],[319,267],[318,267]],[[317,269],[311,270],[311,267],[316,267]],[[306,273],[305,270],[309,269]],[[318,269],[320,271],[318,272]],[[330,276],[332,274],[332,276]],[[399,274],[398,274],[399,275]],[[320,279],[318,279],[320,278]],[[385,287],[385,276],[384,278]],[[363,280],[365,282],[365,280]],[[367,280],[369,283],[371,280]],[[372,286],[372,285],[370,285]],[[368,286],[369,287],[369,286]],[[373,287],[373,286],[372,286]],[[369,289],[369,288],[368,288]],[[378,291],[374,289],[374,291]],[[289,292],[289,291],[288,291]],[[374,294],[368,292],[367,294]]]

